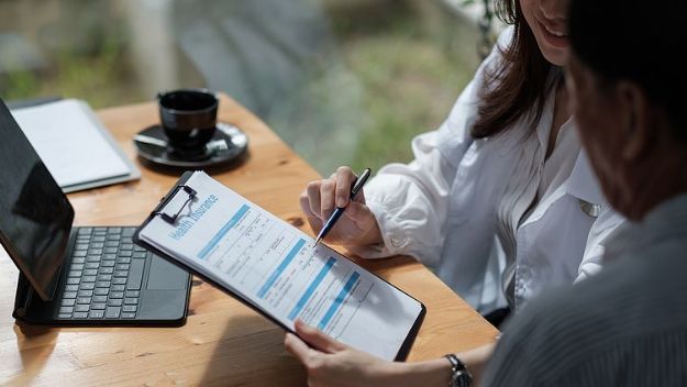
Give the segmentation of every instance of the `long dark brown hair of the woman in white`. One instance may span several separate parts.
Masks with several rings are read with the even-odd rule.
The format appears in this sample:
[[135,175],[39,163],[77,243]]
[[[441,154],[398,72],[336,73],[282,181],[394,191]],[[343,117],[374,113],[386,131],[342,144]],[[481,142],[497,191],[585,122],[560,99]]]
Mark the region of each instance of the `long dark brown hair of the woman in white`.
[[530,120],[539,121],[550,91],[547,81],[553,66],[542,55],[524,20],[520,0],[496,0],[495,10],[501,20],[513,24],[514,32],[511,44],[502,51],[501,64],[485,71],[485,84],[489,87],[480,96],[477,121],[470,131],[475,139],[496,135],[511,128],[517,120],[532,112],[532,107],[535,110]]

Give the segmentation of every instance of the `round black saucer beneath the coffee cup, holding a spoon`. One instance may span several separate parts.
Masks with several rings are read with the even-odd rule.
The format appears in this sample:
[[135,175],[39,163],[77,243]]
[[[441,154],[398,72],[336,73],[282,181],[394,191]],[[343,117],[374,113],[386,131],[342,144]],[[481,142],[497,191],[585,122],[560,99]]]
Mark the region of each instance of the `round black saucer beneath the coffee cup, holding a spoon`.
[[159,124],[148,126],[134,136],[136,153],[154,166],[202,169],[229,166],[246,153],[248,137],[239,128],[224,122],[217,123],[217,131],[203,150],[185,155],[167,144]]

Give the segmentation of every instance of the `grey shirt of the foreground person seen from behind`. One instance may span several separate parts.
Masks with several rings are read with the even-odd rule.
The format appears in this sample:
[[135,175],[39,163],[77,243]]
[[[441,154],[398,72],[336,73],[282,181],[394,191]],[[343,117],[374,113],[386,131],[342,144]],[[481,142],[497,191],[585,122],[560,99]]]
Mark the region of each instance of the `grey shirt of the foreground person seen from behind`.
[[485,386],[687,386],[687,195],[619,229],[605,259],[513,318]]

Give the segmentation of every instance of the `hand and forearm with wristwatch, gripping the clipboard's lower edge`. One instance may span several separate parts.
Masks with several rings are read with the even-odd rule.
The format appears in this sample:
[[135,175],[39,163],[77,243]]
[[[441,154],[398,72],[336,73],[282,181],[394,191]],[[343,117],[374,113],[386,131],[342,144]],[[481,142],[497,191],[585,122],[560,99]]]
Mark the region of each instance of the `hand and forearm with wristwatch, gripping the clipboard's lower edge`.
[[306,367],[310,387],[448,385],[451,364],[445,358],[386,362],[342,344],[300,320],[296,321],[296,333],[302,340],[287,333],[284,345]]

